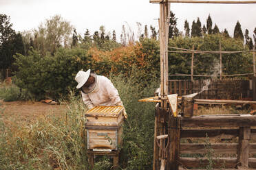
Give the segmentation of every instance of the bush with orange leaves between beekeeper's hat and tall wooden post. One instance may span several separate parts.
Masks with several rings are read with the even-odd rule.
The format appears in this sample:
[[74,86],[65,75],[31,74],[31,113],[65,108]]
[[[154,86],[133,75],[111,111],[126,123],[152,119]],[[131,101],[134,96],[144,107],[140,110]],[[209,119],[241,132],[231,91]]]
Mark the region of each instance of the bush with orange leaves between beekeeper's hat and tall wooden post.
[[[112,51],[100,51],[96,47],[89,50],[92,56],[92,69],[100,75],[129,76],[132,68],[140,71],[139,77],[152,77],[160,73],[159,42],[145,38],[136,44],[129,44]],[[142,78],[144,79],[144,78]]]

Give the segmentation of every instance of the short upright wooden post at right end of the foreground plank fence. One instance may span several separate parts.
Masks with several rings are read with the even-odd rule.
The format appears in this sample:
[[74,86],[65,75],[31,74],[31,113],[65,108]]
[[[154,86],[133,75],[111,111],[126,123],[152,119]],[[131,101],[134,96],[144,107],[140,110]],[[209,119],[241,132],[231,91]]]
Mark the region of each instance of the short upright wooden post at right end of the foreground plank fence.
[[239,128],[239,146],[237,151],[237,167],[248,168],[250,127]]

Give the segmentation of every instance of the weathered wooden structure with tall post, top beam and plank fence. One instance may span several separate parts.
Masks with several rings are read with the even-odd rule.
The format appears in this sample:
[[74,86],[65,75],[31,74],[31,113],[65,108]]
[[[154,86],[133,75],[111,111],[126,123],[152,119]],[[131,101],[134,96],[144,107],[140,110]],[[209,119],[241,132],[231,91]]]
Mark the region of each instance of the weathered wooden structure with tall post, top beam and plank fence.
[[[195,153],[195,151],[205,152],[203,145],[181,145],[181,138],[184,137],[204,137],[207,134],[217,136],[222,134],[229,134],[233,132],[233,136],[238,136],[239,141],[233,145],[214,146],[217,153],[220,154],[237,154],[236,158],[216,158],[217,164],[213,167],[239,168],[239,167],[253,167],[256,166],[256,159],[249,158],[249,154],[255,153],[255,144],[250,144],[250,138],[255,136],[255,130],[250,127],[256,124],[256,117],[250,115],[236,115],[236,116],[207,116],[207,117],[191,117],[182,118],[180,116],[173,117],[171,108],[167,103],[167,95],[169,95],[169,81],[168,81],[168,32],[169,32],[169,12],[170,3],[256,3],[256,1],[204,1],[204,0],[150,0],[151,3],[159,3],[160,5],[160,97],[159,103],[156,106],[155,118],[155,134],[154,134],[154,154],[153,154],[153,169],[179,169],[180,165],[184,167],[202,167],[200,163],[207,165],[213,158],[207,160],[205,158],[182,158],[180,154],[186,152]],[[221,47],[220,47],[221,48]],[[221,49],[220,49],[221,50]],[[195,51],[192,51],[194,53]],[[220,52],[220,60],[222,55]],[[255,53],[254,53],[255,55]],[[191,72],[193,73],[193,71]],[[255,72],[254,72],[255,73]],[[222,73],[220,74],[222,75]],[[193,75],[191,76],[193,81]],[[256,86],[256,85],[255,85]],[[193,127],[194,129],[191,129]],[[228,130],[222,128],[230,128]],[[188,128],[186,130],[186,128]],[[210,128],[210,129],[208,129]],[[158,141],[160,140],[160,141]],[[228,146],[228,147],[226,147]],[[198,150],[193,149],[197,147]],[[223,152],[224,151],[224,152]],[[222,164],[223,163],[223,164]],[[205,166],[203,166],[205,167]],[[226,168],[225,167],[225,168]],[[222,168],[222,167],[221,167]]]

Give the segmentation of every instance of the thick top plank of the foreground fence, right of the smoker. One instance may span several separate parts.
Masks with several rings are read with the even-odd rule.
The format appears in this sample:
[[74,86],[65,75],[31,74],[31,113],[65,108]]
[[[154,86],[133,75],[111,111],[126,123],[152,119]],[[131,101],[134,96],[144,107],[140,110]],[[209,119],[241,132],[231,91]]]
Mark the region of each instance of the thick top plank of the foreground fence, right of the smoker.
[[191,117],[181,118],[182,127],[243,127],[254,126],[255,116]]

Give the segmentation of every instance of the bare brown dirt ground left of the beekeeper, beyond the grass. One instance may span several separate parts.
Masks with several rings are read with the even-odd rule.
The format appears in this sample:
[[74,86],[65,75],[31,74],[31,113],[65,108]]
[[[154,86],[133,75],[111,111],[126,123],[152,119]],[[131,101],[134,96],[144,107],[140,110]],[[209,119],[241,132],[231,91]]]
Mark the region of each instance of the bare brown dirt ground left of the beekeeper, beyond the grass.
[[51,105],[33,101],[0,101],[0,119],[9,123],[32,123],[40,117],[50,114],[61,116],[67,110],[66,105]]

